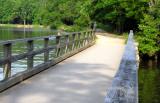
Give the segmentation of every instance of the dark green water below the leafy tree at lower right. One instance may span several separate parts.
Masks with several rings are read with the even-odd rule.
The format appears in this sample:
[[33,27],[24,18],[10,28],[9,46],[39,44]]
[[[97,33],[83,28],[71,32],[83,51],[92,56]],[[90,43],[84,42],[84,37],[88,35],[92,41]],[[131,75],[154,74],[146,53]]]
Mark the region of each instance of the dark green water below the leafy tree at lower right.
[[140,63],[139,103],[160,103],[160,61]]

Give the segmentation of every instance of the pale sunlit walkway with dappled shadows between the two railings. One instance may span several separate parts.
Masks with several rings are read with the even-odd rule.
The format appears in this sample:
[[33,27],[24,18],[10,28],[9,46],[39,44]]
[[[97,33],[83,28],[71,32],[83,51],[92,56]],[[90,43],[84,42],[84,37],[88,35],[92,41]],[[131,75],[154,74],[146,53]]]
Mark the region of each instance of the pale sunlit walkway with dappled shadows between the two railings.
[[124,51],[124,40],[96,44],[0,94],[0,103],[104,103]]

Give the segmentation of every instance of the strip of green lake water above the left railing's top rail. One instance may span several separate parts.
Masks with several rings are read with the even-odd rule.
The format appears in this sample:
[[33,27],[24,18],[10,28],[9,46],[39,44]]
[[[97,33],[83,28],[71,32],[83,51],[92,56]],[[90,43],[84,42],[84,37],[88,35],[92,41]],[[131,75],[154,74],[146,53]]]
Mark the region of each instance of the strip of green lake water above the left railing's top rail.
[[44,28],[4,28],[0,27],[0,41],[54,35],[56,31]]

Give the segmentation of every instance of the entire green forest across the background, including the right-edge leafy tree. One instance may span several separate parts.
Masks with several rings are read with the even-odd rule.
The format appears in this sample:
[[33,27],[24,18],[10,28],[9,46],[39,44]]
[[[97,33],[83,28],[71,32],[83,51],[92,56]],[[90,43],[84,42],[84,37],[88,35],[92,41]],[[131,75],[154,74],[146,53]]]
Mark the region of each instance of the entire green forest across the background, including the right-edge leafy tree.
[[141,55],[160,51],[160,0],[0,0],[0,23],[39,24],[53,29],[136,31]]

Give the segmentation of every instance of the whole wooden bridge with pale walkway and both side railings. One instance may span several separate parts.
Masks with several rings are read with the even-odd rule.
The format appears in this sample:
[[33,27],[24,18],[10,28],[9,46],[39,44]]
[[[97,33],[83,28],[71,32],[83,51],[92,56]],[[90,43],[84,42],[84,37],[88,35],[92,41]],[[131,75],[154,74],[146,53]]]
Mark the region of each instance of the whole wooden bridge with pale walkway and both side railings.
[[[105,36],[95,34],[95,30],[91,30],[54,37],[1,42],[4,47],[4,58],[0,59],[0,64],[3,65],[4,78],[0,82],[0,101],[2,103],[113,103],[115,100],[122,101],[121,97],[127,98],[123,91],[117,95],[119,91],[117,88],[134,83],[131,88],[135,92],[128,94],[131,90],[128,87],[125,93],[137,96],[137,61],[135,48],[132,46],[133,35],[129,37],[128,46],[125,46],[124,39],[103,34]],[[34,49],[35,40],[44,41],[42,49]],[[12,46],[16,42],[25,42],[27,52],[13,55]],[[133,50],[129,51],[133,52],[130,55],[133,56],[131,59],[125,58],[126,53],[129,53],[127,48]],[[51,52],[55,55],[50,55]],[[34,56],[42,53],[44,62],[34,66]],[[27,69],[12,75],[12,63],[24,58],[27,59]],[[122,72],[126,69],[124,67],[126,63],[135,66],[129,65],[129,70],[125,74]],[[125,78],[127,74],[133,74],[131,79]],[[129,81],[123,82],[124,86],[118,84],[124,81],[122,76]],[[116,77],[121,78],[119,82]],[[112,86],[116,89],[113,90]],[[137,98],[131,99],[132,102],[137,101]]]

